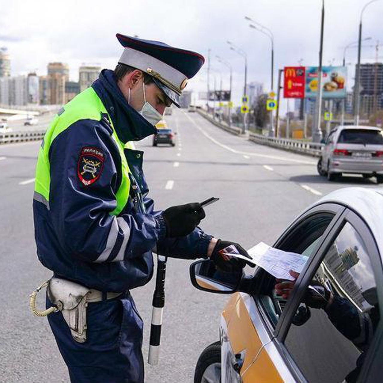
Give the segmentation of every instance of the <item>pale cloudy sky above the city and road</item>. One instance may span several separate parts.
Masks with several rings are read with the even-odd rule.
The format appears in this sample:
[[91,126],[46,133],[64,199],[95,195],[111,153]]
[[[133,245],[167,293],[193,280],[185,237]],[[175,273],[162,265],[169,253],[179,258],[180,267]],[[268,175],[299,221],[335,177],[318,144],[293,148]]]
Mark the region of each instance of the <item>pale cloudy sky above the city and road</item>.
[[[323,64],[339,65],[345,45],[358,38],[360,11],[368,0],[325,0]],[[244,16],[273,31],[275,83],[277,69],[285,65],[318,65],[320,0],[0,0],[0,47],[11,56],[12,75],[37,71],[46,74],[51,61],[66,62],[70,77],[78,80],[82,63],[113,68],[121,54],[117,32],[164,41],[191,49],[207,57],[211,49],[211,88],[214,74],[223,88],[229,87],[228,69],[233,68],[234,98],[239,99],[244,83],[244,59],[229,49],[232,41],[247,53],[248,82],[259,81],[270,88],[270,40],[249,28]],[[383,0],[366,8],[363,37],[372,37],[362,51],[362,61],[374,61],[375,44],[383,44]],[[380,47],[383,61],[383,46]],[[349,77],[354,77],[357,49],[347,51]],[[191,80],[188,89],[205,90],[206,67]]]

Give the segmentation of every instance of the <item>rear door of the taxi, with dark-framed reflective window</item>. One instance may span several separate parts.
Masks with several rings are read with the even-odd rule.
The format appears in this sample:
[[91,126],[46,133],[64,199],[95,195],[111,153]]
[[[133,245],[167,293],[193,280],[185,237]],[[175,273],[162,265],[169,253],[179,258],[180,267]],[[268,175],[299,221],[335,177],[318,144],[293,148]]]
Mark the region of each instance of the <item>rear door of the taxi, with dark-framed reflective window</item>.
[[[324,305],[313,286],[325,287]],[[298,278],[276,336],[263,347],[278,371],[298,382],[377,382],[381,373],[383,273],[368,226],[345,210]],[[323,303],[323,302],[322,302]],[[302,323],[300,307],[309,309]],[[258,368],[261,368],[259,365]],[[291,374],[289,376],[286,370]]]

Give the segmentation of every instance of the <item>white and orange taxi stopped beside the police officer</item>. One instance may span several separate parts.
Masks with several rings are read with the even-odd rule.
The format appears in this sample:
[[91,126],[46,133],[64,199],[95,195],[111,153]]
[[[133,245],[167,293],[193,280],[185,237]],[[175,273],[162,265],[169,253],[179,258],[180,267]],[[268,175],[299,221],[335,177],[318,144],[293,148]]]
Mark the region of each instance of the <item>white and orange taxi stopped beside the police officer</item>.
[[[300,214],[273,245],[306,257],[287,299],[260,267],[228,275],[193,262],[196,288],[234,293],[194,382],[382,381],[382,222],[383,189],[339,189]],[[319,286],[324,305],[309,299]]]

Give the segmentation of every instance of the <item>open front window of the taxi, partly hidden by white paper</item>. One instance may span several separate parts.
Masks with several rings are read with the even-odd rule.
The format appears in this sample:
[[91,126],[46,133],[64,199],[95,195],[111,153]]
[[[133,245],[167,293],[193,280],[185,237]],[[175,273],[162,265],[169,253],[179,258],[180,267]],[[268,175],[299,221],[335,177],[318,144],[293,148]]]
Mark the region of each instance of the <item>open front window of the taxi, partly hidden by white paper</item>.
[[[313,254],[327,226],[334,218],[332,213],[316,213],[296,224],[285,235],[278,249],[305,255],[309,259]],[[257,295],[273,327],[277,326],[287,299],[275,292],[275,278],[265,272],[262,291]]]

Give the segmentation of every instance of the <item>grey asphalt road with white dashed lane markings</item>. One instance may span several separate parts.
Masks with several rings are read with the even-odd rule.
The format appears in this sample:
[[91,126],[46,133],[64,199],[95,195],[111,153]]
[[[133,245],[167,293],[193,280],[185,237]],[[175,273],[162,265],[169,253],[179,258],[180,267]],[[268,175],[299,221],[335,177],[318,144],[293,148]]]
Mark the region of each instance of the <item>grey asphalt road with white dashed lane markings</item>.
[[[362,177],[328,182],[317,175],[315,159],[232,136],[197,113],[174,111],[167,121],[178,132],[175,147],[152,147],[151,137],[137,144],[145,151],[144,170],[157,208],[217,196],[219,202],[206,207],[201,227],[245,248],[259,241],[272,244],[321,195],[347,186],[376,186]],[[39,264],[34,244],[39,144],[0,146],[0,381],[7,383],[69,381],[47,319],[32,316],[28,306],[31,291],[51,276]],[[160,362],[146,363],[147,382],[192,382],[198,355],[218,340],[227,297],[193,288],[189,264],[169,259]],[[153,289],[154,280],[132,291],[145,322],[145,360]],[[38,303],[43,307],[43,296]]]

